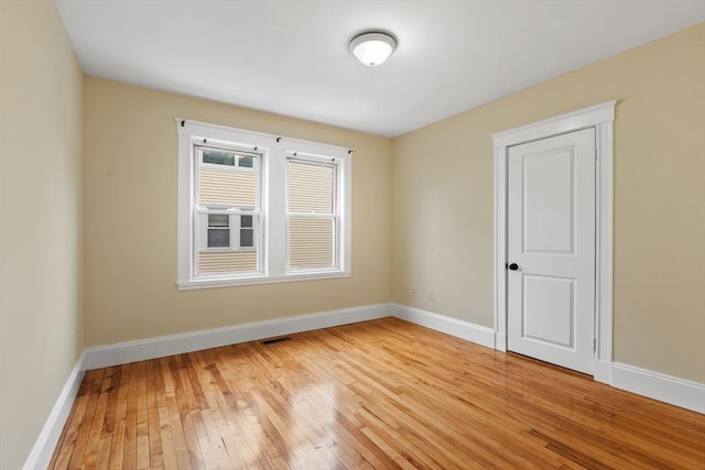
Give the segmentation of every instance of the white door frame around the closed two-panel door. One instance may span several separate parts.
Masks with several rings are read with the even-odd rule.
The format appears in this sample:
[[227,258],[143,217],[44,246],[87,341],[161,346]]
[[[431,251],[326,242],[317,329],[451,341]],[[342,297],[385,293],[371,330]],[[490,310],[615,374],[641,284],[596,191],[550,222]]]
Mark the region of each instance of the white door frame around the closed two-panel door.
[[492,134],[495,142],[495,349],[507,351],[509,147],[582,129],[595,129],[595,351],[594,378],[610,383],[612,361],[614,122],[617,100]]

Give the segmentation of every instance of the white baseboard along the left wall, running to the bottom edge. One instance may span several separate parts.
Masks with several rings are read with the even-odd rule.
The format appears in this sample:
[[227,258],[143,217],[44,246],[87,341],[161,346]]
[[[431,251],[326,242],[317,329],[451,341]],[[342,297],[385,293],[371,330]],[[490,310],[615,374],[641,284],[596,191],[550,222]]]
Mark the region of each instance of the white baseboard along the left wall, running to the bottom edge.
[[80,382],[84,380],[85,359],[86,353],[82,352],[40,433],[40,437],[34,442],[24,467],[22,467],[23,470],[39,470],[48,467],[70,408],[74,406]]

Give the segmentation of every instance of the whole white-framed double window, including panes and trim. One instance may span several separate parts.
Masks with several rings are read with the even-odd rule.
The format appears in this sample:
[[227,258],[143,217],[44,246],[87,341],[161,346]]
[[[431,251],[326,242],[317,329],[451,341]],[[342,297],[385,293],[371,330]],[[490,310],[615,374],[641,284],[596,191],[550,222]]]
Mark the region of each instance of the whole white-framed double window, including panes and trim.
[[180,288],[350,274],[350,151],[177,120]]

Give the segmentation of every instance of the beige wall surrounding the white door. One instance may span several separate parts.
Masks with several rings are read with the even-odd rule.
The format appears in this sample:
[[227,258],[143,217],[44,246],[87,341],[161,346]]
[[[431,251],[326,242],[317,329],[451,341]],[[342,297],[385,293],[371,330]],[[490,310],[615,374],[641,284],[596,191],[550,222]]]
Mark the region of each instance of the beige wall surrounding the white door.
[[705,382],[705,24],[394,140],[394,300],[492,327],[490,134],[611,99],[615,360]]

